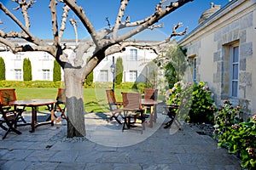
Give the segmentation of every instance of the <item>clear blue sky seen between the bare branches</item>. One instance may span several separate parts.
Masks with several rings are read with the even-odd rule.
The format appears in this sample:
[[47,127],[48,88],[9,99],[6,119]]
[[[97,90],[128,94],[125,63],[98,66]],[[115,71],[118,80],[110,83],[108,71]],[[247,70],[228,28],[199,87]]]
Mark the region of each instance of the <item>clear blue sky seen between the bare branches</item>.
[[[174,1],[174,0],[167,0]],[[13,11],[15,16],[22,20],[21,12],[14,11],[12,8],[17,7],[17,5],[10,0],[1,0],[1,2]],[[107,26],[105,18],[108,17],[110,23],[113,24],[116,18],[116,14],[119,9],[119,0],[77,0],[77,3],[83,6],[85,14],[88,16],[96,30],[102,29]],[[125,15],[129,14],[131,21],[142,20],[150,14],[154,13],[154,7],[160,0],[130,0],[128,7],[125,10]],[[172,31],[172,26],[176,25],[178,22],[183,22],[183,27],[179,31],[183,31],[186,26],[189,26],[189,31],[195,29],[198,26],[198,20],[201,14],[208,8],[210,8],[210,3],[221,5],[224,7],[225,4],[229,3],[229,0],[194,0],[193,2],[185,4],[183,7],[178,8],[172,14],[166,16],[159,23],[164,24],[164,28],[157,29],[154,31],[146,31],[142,34],[143,38],[147,39],[158,39],[164,38],[167,34]],[[58,8],[58,22],[61,23],[61,7],[62,4],[59,3],[60,8]],[[37,3],[32,5],[29,9],[29,15],[31,18],[31,28],[32,33],[39,38],[52,38],[51,30],[51,20],[49,13],[49,0],[37,0]],[[74,14],[69,14],[68,17],[73,17]],[[3,24],[0,25],[0,29],[3,31],[20,31],[15,23],[0,11],[0,19]],[[78,20],[78,18],[76,17]],[[84,30],[84,26],[81,23],[78,24],[79,38],[84,38],[88,36],[87,32]],[[71,39],[74,38],[73,28],[70,26],[69,21],[67,22],[67,30],[64,33],[63,38]]]

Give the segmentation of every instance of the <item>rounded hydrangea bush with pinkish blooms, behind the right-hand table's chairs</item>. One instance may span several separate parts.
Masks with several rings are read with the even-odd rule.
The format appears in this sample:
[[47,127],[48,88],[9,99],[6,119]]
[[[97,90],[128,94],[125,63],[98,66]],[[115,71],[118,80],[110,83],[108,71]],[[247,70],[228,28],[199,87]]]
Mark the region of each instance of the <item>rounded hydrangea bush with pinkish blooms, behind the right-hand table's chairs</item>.
[[213,123],[216,109],[211,99],[212,92],[206,84],[206,82],[198,84],[176,82],[167,92],[166,104],[180,105],[181,99],[186,99],[185,108],[186,111],[189,110],[187,122]]

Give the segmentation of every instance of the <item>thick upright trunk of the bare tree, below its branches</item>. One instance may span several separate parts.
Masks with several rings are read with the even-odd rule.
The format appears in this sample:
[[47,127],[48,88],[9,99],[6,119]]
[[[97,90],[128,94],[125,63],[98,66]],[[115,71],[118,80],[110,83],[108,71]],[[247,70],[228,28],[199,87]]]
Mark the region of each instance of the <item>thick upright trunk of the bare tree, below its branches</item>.
[[67,106],[67,138],[84,137],[84,84],[81,71],[65,68]]

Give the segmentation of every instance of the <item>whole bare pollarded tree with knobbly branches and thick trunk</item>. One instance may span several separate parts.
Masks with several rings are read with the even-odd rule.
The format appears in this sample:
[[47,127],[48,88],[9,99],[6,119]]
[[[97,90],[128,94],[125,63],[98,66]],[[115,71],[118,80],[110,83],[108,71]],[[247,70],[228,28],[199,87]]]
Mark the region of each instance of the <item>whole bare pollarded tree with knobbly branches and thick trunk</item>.
[[[18,7],[23,14],[25,25],[18,20],[15,15],[6,8],[3,3],[0,3],[0,9],[9,16],[11,20],[15,21],[15,24],[20,27],[22,31],[9,31],[5,32],[0,30],[0,42],[9,46],[13,53],[26,52],[26,51],[44,51],[55,57],[56,61],[61,65],[64,71],[65,87],[67,95],[67,138],[81,137],[85,136],[85,125],[84,125],[84,99],[83,99],[83,86],[86,81],[87,75],[93,71],[93,69],[98,65],[105,56],[110,54],[115,54],[125,50],[127,46],[135,46],[137,48],[148,48],[154,49],[157,52],[157,47],[160,44],[169,42],[174,36],[184,35],[187,31],[177,32],[177,28],[182,26],[179,23],[177,26],[173,27],[172,33],[163,42],[158,42],[157,44],[140,44],[135,41],[127,41],[128,38],[137,35],[137,33],[144,31],[145,29],[154,29],[160,27],[161,25],[155,25],[160,19],[165,17],[167,14],[171,14],[177,8],[180,8],[185,3],[189,3],[192,0],[177,0],[176,2],[167,3],[166,0],[161,0],[160,3],[156,4],[154,14],[149,15],[143,20],[131,21],[129,16],[124,19],[125,8],[127,7],[129,0],[120,0],[119,12],[116,17],[113,26],[109,24],[108,18],[108,28],[102,29],[101,31],[96,31],[89,18],[86,16],[84,9],[79,6],[79,3],[84,3],[80,1],[77,3],[75,0],[59,0],[59,2],[64,3],[64,8],[62,11],[61,28],[58,28],[57,22],[57,11],[56,6],[59,5],[56,0],[49,0],[49,8],[51,13],[51,23],[52,23],[52,34],[53,42],[49,44],[44,39],[35,37],[30,28],[30,18],[28,15],[28,9],[32,7],[33,0],[12,0],[18,4]],[[76,44],[73,48],[73,59],[68,59],[68,55],[65,49],[68,47],[61,42],[61,37],[66,29],[68,12],[73,11],[79,21],[82,23],[84,28],[90,33],[90,40],[80,42]],[[124,21],[123,21],[124,20]],[[76,23],[71,20],[73,26]],[[121,29],[128,28],[131,29],[122,35],[118,32]],[[12,41],[12,38],[21,38],[26,40],[26,45],[19,45]],[[89,54],[92,52],[92,55]],[[85,59],[84,59],[85,56]],[[86,58],[90,57],[89,62],[86,63]]]

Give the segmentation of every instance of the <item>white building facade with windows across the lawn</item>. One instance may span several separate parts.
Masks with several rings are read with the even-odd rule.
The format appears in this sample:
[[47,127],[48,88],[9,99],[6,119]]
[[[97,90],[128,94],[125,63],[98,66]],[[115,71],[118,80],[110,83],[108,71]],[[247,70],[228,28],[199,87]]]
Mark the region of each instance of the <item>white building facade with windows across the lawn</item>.
[[[18,41],[19,42],[19,41]],[[67,41],[73,44],[74,41]],[[70,45],[69,44],[69,45]],[[9,48],[0,44],[0,57],[5,63],[5,77],[9,81],[23,81],[23,60],[30,59],[32,64],[32,80],[53,80],[54,57],[45,52],[22,52],[13,54]],[[123,59],[123,82],[145,82],[147,63],[157,57],[152,50],[142,50],[139,48],[127,47],[123,53],[107,56],[94,69],[94,82],[112,82],[113,73],[111,65],[116,63],[116,59]],[[143,75],[143,76],[142,76]],[[63,73],[61,75],[63,77]]]

